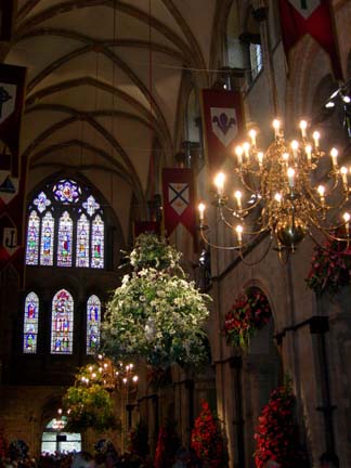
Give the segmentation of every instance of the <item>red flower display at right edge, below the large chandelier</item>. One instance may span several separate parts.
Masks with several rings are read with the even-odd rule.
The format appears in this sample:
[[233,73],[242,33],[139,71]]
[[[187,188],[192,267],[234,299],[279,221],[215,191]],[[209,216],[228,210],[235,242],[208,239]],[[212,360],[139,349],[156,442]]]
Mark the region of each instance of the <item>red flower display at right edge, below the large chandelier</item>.
[[351,284],[351,247],[335,239],[315,246],[306,283],[318,297],[324,292],[334,296]]

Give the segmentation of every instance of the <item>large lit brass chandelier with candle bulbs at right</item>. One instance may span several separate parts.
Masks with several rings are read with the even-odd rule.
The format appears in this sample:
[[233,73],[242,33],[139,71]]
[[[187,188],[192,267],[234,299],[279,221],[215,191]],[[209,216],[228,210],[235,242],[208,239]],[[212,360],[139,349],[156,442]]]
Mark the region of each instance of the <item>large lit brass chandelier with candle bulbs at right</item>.
[[314,131],[310,135],[306,120],[299,123],[299,139],[291,142],[285,139],[280,120],[273,121],[273,129],[274,141],[265,153],[257,145],[255,129],[248,133],[249,141],[235,148],[232,196],[225,191],[224,173],[218,173],[214,179],[212,205],[217,221],[234,234],[233,245],[219,245],[209,239],[206,206],[200,203],[199,230],[205,243],[214,248],[238,250],[243,258],[247,247],[269,233],[271,243],[266,252],[273,243],[281,260],[286,260],[307,235],[315,240],[315,230],[327,237],[349,242],[347,207],[351,168],[339,166],[336,148],[332,148],[329,160],[325,157],[320,133]]

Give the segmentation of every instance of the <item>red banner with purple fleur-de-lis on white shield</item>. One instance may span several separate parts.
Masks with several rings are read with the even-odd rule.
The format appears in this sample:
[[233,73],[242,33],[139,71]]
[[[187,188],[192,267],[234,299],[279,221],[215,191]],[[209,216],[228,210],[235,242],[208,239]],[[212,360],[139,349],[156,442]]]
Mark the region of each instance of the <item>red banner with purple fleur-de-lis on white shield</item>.
[[219,169],[244,132],[242,94],[204,89],[202,102],[207,158],[211,169]]

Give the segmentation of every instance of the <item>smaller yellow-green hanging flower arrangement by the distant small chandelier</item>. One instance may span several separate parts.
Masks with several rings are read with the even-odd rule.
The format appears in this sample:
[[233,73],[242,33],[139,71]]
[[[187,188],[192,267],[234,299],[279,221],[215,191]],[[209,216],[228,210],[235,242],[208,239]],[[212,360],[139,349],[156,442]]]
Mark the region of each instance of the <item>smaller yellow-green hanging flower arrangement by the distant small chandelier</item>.
[[92,365],[80,369],[75,385],[67,389],[63,398],[67,414],[65,430],[70,432],[80,432],[88,428],[104,431],[119,427],[110,392],[104,387],[99,369],[91,373],[90,367]]

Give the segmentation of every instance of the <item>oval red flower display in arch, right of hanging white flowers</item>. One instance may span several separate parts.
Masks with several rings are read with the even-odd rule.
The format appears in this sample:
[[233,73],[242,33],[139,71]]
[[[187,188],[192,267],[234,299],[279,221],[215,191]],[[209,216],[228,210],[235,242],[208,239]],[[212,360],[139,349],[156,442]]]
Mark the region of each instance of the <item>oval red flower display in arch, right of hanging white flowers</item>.
[[270,303],[258,288],[251,288],[234,302],[225,314],[223,333],[226,342],[247,349],[250,338],[271,318]]

